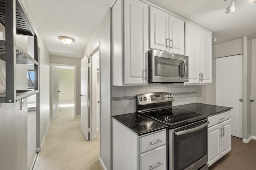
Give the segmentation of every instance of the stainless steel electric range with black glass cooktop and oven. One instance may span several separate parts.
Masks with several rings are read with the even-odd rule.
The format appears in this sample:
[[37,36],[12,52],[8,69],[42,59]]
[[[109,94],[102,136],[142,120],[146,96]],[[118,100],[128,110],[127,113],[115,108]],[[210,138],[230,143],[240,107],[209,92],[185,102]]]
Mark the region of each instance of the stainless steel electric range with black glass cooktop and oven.
[[207,115],[172,107],[171,93],[137,95],[137,112],[169,125],[169,170],[208,170]]

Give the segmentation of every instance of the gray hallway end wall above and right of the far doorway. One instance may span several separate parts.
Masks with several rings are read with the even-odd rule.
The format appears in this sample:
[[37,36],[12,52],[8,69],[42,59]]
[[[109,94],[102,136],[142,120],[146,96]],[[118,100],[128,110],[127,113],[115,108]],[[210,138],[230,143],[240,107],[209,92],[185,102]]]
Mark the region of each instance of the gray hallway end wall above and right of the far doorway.
[[57,55],[50,56],[51,64],[76,65],[76,115],[81,115],[81,99],[78,95],[81,93],[81,63],[80,58],[63,57]]

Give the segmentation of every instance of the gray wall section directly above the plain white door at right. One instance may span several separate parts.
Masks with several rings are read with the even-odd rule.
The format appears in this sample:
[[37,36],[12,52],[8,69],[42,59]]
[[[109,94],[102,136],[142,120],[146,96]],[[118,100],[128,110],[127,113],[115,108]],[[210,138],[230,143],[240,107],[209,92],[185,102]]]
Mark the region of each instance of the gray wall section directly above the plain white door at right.
[[243,46],[243,38],[215,45],[215,58],[243,54]]

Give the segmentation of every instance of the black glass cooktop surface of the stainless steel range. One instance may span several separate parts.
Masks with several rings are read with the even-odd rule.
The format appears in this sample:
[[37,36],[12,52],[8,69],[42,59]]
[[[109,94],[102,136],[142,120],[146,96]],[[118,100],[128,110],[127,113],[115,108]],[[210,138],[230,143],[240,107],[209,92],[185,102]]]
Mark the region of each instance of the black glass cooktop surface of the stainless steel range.
[[170,128],[180,127],[182,125],[207,118],[207,115],[205,114],[185,111],[177,108],[149,111],[141,114],[166,123]]

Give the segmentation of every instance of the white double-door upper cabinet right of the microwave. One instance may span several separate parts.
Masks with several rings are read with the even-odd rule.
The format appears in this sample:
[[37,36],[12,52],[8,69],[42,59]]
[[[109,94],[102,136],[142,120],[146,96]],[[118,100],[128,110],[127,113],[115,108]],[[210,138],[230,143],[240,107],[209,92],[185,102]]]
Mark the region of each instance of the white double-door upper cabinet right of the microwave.
[[188,56],[188,82],[185,85],[212,83],[212,34],[185,23],[185,55]]

